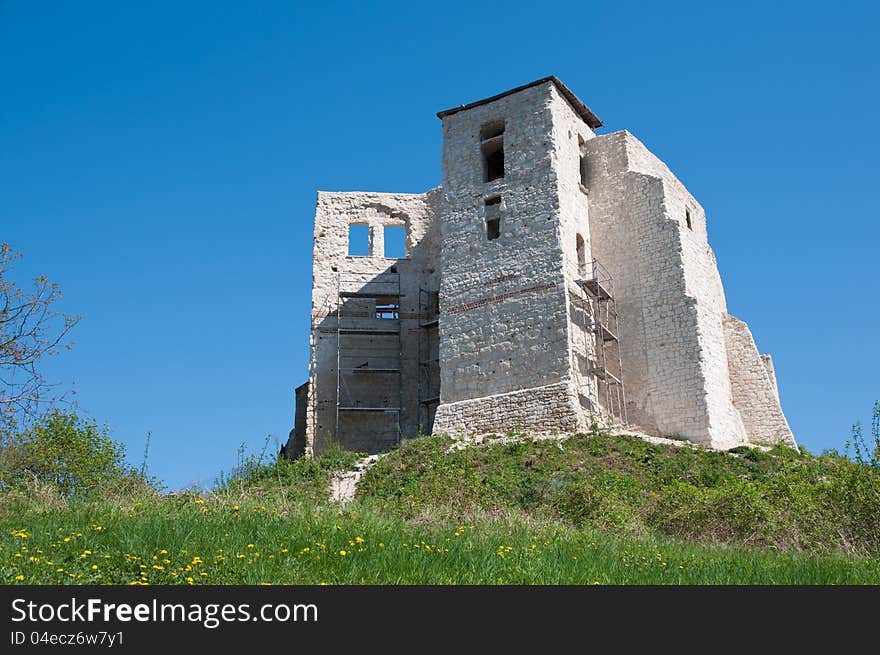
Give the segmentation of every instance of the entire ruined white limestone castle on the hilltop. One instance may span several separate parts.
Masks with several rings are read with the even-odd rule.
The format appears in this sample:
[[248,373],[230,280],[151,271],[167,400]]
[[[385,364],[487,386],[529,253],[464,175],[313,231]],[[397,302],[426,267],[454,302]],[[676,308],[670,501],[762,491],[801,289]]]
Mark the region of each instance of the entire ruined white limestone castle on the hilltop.
[[311,359],[285,452],[625,425],[795,445],[703,208],[555,77],[438,114],[443,183],[319,192]]

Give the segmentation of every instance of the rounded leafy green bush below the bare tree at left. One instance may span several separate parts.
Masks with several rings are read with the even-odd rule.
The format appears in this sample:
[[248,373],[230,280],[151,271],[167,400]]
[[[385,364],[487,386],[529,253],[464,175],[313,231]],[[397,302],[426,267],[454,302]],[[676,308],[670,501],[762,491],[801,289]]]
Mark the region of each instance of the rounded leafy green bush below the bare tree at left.
[[23,431],[7,429],[0,441],[0,490],[50,485],[64,497],[107,492],[119,485],[145,487],[125,464],[125,447],[106,427],[53,410]]

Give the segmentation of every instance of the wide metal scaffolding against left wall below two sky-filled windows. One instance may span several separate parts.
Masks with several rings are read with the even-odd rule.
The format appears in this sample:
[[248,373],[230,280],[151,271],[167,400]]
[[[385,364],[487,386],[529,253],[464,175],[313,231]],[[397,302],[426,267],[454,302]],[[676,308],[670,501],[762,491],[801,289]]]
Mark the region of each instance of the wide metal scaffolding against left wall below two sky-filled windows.
[[[359,305],[343,311],[345,303]],[[403,361],[403,340],[400,327],[400,274],[399,273],[339,273],[336,285],[336,442],[342,444],[340,415],[356,412],[383,413],[394,420],[393,435],[400,443],[400,413],[403,406],[403,385],[400,367]],[[364,337],[378,339],[379,343],[396,338],[395,356],[384,350],[365,348],[359,344]],[[352,365],[353,359],[364,359]],[[371,363],[370,360],[373,360]],[[377,362],[378,363],[375,363]],[[375,377],[376,384],[396,385],[397,406],[372,402],[369,398],[352,394],[349,381],[363,376]],[[396,378],[391,382],[388,378]],[[363,386],[363,385],[361,385]],[[372,386],[372,385],[371,385]],[[372,386],[372,388],[377,388]]]

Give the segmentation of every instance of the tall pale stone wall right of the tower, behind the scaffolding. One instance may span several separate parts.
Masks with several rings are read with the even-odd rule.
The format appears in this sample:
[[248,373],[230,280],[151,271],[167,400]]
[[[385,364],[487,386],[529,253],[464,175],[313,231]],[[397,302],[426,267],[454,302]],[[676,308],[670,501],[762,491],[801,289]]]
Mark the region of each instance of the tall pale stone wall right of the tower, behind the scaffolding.
[[593,253],[614,276],[630,420],[705,445],[742,443],[702,207],[627,132],[587,150]]

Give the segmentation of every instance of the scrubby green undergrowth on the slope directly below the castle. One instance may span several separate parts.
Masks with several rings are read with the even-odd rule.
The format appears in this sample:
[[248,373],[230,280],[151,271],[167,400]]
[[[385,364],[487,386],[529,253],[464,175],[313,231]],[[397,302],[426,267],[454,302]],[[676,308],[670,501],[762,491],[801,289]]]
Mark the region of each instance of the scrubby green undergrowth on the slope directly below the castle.
[[880,556],[880,468],[780,446],[720,453],[575,435],[450,450],[407,441],[361,480],[383,511],[518,512],[618,535]]

